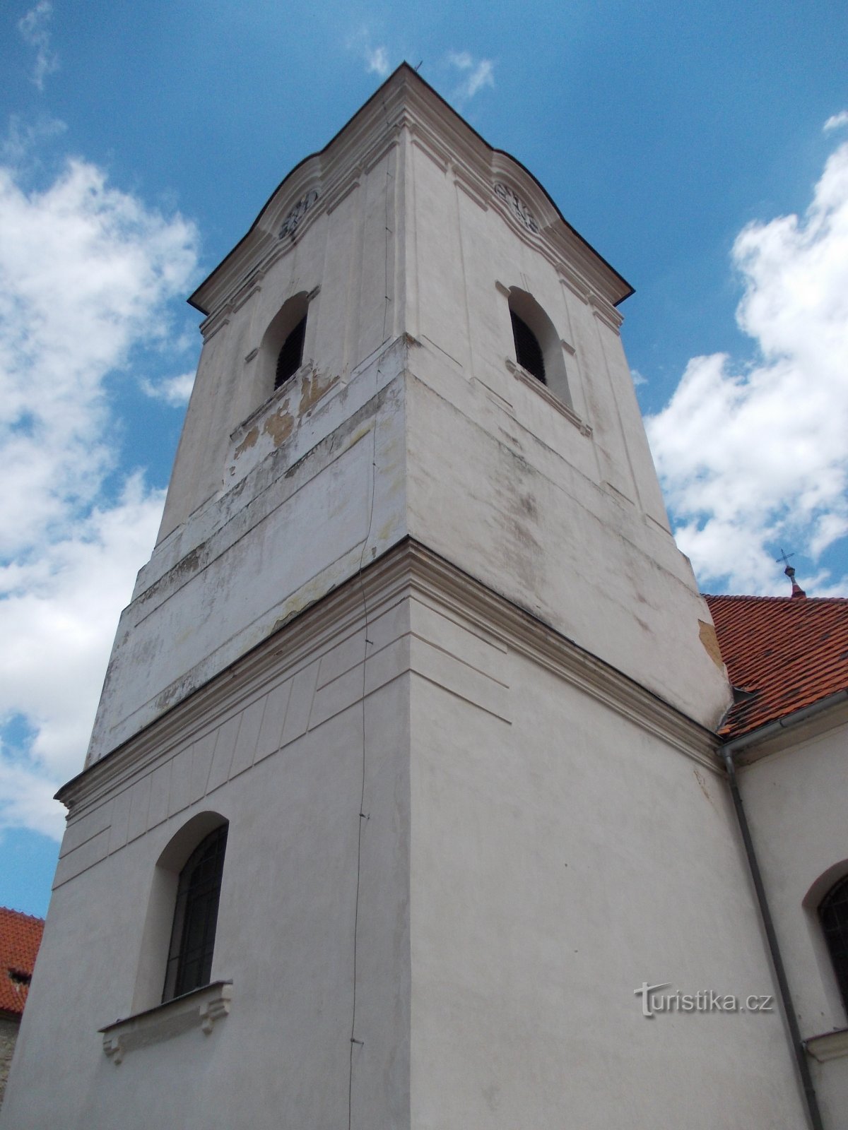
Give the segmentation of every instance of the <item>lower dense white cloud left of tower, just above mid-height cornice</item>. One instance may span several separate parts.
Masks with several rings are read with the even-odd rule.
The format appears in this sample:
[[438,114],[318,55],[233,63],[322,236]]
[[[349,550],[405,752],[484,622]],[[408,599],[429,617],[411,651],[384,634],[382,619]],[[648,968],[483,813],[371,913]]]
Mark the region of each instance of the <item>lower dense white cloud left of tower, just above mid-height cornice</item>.
[[83,767],[118,616],[162,503],[135,476],[116,505],[0,568],[0,709],[34,729],[23,750],[0,736],[0,825],[61,835],[63,809],[45,801]]

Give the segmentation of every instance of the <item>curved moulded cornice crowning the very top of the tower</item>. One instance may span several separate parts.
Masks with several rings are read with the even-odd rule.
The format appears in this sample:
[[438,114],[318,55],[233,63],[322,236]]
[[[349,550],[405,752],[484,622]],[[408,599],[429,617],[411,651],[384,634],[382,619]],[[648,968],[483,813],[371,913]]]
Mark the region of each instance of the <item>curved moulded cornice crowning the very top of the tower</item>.
[[[487,157],[492,181],[503,185],[507,192],[514,186],[517,195],[533,209],[531,215],[534,220],[538,221],[538,228],[550,231],[552,226],[562,225],[562,234],[572,244],[577,243],[583,254],[591,260],[595,272],[603,278],[606,296],[613,305],[617,306],[633,294],[633,287],[569,224],[533,173],[503,149],[488,145],[429,82],[404,62],[378,87],[323,149],[304,157],[284,177],[246,234],[200,284],[190,296],[189,303],[208,315],[228,294],[246,282],[251,270],[280,238],[280,232],[284,236],[286,234],[294,236],[300,220],[305,218],[309,210],[314,208],[317,211],[320,208],[321,195],[326,194],[322,184],[325,177],[331,180],[334,169],[339,165],[349,164],[354,167],[357,160],[362,159],[358,144],[373,132],[374,122],[382,123],[384,129],[387,114],[403,108],[409,111],[430,108],[442,127],[447,128],[457,140],[465,140],[466,147],[470,142],[471,148],[482,151]],[[390,129],[395,128],[397,121],[396,114]],[[352,155],[349,162],[345,160],[347,155]],[[533,231],[533,224],[526,226]]]

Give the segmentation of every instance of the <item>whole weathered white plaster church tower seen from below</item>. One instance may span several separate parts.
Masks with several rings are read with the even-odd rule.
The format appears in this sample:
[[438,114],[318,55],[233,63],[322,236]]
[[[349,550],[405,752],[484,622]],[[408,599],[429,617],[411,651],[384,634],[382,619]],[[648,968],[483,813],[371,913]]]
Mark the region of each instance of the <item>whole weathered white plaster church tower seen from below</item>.
[[192,295],[3,1130],[802,1123],[629,294],[403,66]]

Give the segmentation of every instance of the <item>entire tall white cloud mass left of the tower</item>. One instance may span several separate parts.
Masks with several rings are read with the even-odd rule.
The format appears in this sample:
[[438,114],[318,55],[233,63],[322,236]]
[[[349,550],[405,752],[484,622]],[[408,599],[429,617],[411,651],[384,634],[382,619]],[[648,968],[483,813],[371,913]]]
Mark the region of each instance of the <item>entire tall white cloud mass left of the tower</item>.
[[0,167],[0,827],[61,831],[49,798],[81,767],[162,511],[159,492],[119,471],[107,382],[135,348],[170,342],[167,301],[196,264],[192,224],[90,164],[69,162],[38,192]]

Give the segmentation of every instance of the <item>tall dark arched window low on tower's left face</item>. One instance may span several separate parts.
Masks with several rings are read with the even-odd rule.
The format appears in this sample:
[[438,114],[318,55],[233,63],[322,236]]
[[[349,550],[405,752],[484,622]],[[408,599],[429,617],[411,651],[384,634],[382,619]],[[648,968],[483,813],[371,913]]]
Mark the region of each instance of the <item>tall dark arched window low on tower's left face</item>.
[[209,983],[227,825],[210,832],[180,871],[163,1001]]

